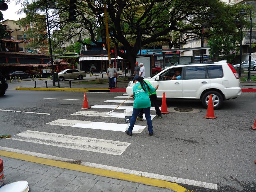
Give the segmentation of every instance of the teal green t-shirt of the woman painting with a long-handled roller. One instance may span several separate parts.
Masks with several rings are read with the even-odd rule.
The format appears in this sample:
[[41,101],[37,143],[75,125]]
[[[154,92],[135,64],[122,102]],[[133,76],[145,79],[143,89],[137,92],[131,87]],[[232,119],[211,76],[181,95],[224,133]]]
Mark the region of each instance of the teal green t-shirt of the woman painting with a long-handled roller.
[[[149,89],[148,89],[148,86],[149,86]],[[133,85],[133,94],[134,94],[133,108],[141,109],[141,108],[151,107],[148,91],[150,93],[153,93],[156,90],[154,87],[152,87],[152,85],[149,84],[148,86],[145,85],[146,91],[144,91],[142,86],[140,85],[140,82]]]

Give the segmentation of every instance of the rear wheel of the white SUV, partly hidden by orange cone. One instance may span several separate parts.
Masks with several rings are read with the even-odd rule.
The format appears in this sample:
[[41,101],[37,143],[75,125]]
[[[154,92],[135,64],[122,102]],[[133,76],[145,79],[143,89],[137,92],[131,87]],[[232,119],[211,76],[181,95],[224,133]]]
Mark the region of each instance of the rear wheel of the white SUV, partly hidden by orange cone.
[[208,108],[208,102],[209,102],[209,97],[210,94],[212,96],[212,102],[213,102],[213,109],[218,109],[221,108],[223,104],[223,96],[221,93],[217,91],[207,91],[203,96],[202,96],[202,103],[204,107],[207,109]]

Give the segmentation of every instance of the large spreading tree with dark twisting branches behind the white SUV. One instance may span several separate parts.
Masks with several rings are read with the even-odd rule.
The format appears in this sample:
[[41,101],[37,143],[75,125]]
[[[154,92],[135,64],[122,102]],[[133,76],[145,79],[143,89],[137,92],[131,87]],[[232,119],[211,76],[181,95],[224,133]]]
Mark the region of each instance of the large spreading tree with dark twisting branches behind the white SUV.
[[[46,0],[33,0],[24,4],[26,22],[36,22],[34,15],[45,12]],[[151,43],[162,43],[170,48],[185,44],[189,38],[199,38],[203,26],[215,28],[206,30],[206,37],[226,31],[235,34],[233,20],[241,6],[225,4],[219,0],[77,0],[77,19],[69,21],[69,1],[57,0],[49,16],[50,28],[59,30],[56,45],[74,37],[82,42],[89,33],[94,46],[101,46],[100,31],[105,28],[104,4],[107,7],[109,36],[111,43],[123,45],[126,52],[118,50],[121,56],[134,63],[141,47]],[[209,18],[214,13],[215,19]],[[223,25],[225,23],[226,25]],[[233,32],[232,32],[233,31]],[[92,45],[90,45],[92,46]]]

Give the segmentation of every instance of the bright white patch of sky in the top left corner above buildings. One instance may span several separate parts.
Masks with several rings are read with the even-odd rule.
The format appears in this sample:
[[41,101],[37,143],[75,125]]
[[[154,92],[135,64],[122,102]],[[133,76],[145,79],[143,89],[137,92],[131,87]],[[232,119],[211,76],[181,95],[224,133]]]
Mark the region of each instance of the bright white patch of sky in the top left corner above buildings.
[[[4,15],[4,20],[10,19],[10,20],[18,20],[19,18],[26,17],[25,13],[18,14],[17,11],[21,9],[21,5],[15,5],[15,1],[11,0],[7,3],[8,9],[6,11],[2,11]],[[3,20],[3,21],[4,21]]]

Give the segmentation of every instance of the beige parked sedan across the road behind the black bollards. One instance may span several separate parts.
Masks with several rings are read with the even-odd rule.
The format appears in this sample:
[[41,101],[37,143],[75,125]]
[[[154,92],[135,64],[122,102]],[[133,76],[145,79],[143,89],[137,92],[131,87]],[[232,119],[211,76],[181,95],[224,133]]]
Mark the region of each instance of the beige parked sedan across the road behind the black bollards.
[[63,81],[64,79],[83,79],[84,77],[86,77],[86,72],[78,69],[65,69],[58,73],[59,81]]

